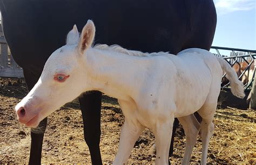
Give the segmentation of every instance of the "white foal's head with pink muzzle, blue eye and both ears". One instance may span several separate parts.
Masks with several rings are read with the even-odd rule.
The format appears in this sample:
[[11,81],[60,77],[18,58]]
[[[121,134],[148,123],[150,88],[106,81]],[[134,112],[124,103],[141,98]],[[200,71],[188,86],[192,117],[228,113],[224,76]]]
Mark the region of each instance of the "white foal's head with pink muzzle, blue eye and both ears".
[[51,54],[36,85],[15,107],[21,123],[36,127],[50,113],[87,90],[86,81],[90,80],[85,73],[85,54],[94,37],[95,25],[91,20],[80,38],[76,25],[73,27],[66,45]]

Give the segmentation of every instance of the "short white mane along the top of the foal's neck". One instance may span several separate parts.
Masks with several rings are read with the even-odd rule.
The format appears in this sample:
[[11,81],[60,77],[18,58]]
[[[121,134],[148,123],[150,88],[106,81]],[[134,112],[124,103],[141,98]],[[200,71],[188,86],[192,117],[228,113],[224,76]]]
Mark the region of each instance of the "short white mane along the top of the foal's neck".
[[103,50],[103,51],[113,51],[113,52],[118,52],[122,54],[127,54],[130,56],[157,56],[157,55],[165,55],[169,54],[169,52],[154,52],[154,53],[143,53],[140,51],[130,51],[128,49],[125,49],[119,45],[106,45],[106,44],[96,44],[93,46],[93,48]]

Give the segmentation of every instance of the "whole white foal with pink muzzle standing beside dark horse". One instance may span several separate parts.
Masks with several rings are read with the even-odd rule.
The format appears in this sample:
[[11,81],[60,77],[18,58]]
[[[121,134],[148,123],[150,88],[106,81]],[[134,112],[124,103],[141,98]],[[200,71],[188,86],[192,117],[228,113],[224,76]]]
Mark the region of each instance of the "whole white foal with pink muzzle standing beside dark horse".
[[[176,56],[128,51],[119,46],[91,47],[94,36],[91,20],[80,38],[73,27],[67,44],[52,53],[35,87],[16,106],[18,120],[36,127],[82,92],[99,90],[118,98],[125,116],[113,164],[126,162],[145,127],[156,137],[156,164],[168,164],[174,117],[178,117],[186,134],[183,164],[189,163],[199,128],[203,138],[201,163],[206,164],[223,70],[232,93],[244,97],[242,83],[230,65],[197,48]],[[201,124],[193,116],[196,111],[203,118]]]

